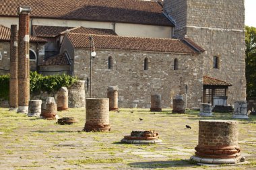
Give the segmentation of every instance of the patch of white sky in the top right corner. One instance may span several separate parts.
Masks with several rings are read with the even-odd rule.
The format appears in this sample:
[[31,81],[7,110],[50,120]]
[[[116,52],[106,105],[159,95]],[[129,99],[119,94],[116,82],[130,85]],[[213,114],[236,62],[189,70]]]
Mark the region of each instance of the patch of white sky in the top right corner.
[[256,0],[245,0],[245,25],[256,28]]

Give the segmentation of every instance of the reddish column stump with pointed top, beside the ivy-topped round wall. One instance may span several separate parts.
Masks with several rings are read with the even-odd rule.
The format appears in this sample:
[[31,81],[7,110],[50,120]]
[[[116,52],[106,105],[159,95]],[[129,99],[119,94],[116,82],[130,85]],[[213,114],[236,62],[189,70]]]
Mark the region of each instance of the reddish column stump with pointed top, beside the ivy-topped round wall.
[[67,110],[69,108],[69,97],[67,87],[61,87],[57,92],[57,110]]

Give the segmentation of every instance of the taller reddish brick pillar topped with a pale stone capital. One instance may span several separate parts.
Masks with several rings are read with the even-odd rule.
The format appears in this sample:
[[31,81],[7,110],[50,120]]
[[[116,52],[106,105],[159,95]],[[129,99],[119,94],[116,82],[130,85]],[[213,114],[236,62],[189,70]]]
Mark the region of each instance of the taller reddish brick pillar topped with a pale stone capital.
[[30,100],[30,7],[18,7],[19,14],[19,83],[18,83],[18,113],[28,113],[28,101]]

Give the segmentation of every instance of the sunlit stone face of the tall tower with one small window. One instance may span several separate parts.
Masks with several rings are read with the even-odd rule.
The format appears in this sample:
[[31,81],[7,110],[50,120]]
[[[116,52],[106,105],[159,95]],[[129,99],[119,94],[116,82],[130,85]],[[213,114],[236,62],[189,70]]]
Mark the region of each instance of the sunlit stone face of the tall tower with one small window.
[[[167,0],[168,1],[168,0]],[[175,5],[181,2],[169,0],[166,9],[180,11]],[[228,103],[245,100],[245,6],[244,0],[183,0],[184,11],[173,15],[177,22],[174,34],[180,38],[185,34],[206,51],[203,56],[203,75],[232,83],[228,90]],[[172,9],[174,8],[174,9]],[[184,23],[187,26],[184,28]],[[182,29],[181,29],[182,28]],[[213,68],[213,56],[220,57],[220,69]]]

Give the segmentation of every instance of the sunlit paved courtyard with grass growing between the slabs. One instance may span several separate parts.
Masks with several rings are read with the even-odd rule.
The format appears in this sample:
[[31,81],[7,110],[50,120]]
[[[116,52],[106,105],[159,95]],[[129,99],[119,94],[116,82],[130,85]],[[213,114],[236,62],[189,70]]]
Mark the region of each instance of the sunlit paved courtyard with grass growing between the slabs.
[[[0,169],[256,169],[256,116],[238,120],[239,145],[247,163],[207,167],[189,158],[197,145],[198,120],[209,118],[201,118],[195,111],[171,114],[168,109],[155,113],[148,110],[110,112],[110,132],[86,133],[81,132],[86,122],[85,109],[58,112],[60,117],[79,120],[59,125],[56,120],[29,118],[0,108]],[[214,115],[212,119],[232,117]],[[156,130],[162,144],[121,144],[131,130]]]

